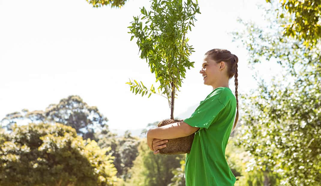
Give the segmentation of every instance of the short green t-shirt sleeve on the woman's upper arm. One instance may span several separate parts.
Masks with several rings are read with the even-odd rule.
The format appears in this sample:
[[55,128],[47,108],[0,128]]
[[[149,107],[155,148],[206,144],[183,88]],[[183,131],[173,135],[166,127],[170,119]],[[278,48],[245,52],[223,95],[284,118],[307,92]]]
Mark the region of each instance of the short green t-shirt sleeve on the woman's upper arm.
[[184,122],[190,126],[199,127],[199,130],[208,129],[224,107],[225,105],[220,102],[217,96],[209,97],[201,101],[192,116],[185,119]]

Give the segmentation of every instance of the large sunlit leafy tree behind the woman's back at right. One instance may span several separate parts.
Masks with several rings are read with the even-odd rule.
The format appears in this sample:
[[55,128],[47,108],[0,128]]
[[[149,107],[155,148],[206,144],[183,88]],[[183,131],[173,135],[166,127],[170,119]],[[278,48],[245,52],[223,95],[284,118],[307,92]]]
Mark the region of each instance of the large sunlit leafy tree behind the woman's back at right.
[[252,67],[277,61],[285,73],[269,84],[256,75],[259,88],[242,95],[237,145],[254,157],[247,168],[262,171],[264,185],[271,184],[271,173],[281,185],[320,185],[320,39],[306,45],[304,38],[283,36],[288,20],[266,13],[266,28],[241,20],[246,29],[234,36],[245,44]]

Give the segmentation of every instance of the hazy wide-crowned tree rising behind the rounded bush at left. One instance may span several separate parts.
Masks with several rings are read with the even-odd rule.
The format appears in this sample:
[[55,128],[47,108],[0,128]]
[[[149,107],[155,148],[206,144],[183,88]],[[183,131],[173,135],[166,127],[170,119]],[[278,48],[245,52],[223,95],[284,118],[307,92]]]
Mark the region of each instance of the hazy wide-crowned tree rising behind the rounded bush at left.
[[77,95],[71,95],[61,99],[58,104],[50,104],[45,111],[29,111],[23,109],[22,112],[13,112],[7,114],[1,123],[10,129],[10,125],[19,120],[26,119],[33,123],[57,122],[76,129],[76,132],[84,139],[95,138],[95,133],[102,130],[108,130],[107,117],[103,116],[97,107],[89,106]]

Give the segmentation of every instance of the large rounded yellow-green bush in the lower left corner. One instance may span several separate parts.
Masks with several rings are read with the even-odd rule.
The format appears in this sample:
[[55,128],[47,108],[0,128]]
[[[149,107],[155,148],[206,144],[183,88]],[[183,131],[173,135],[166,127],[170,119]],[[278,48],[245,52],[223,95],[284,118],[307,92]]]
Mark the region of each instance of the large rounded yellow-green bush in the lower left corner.
[[113,157],[70,126],[28,124],[0,131],[0,185],[115,185]]

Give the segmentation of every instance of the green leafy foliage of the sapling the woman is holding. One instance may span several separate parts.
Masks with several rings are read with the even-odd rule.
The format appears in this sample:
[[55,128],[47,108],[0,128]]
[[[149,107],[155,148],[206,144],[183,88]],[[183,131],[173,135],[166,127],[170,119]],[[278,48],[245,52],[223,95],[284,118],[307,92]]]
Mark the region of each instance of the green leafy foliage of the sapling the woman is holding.
[[[194,62],[190,62],[188,57],[195,51],[187,44],[189,39],[186,34],[194,26],[196,13],[200,13],[197,1],[152,0],[151,10],[141,8],[141,15],[134,17],[128,27],[128,33],[133,34],[131,40],[137,38],[140,58],[146,59],[151,72],[155,73],[156,82],[160,81],[158,90],[166,94],[169,105],[182,85],[186,68],[194,67]],[[132,82],[127,84],[132,91],[135,88],[135,93],[137,90],[143,92]]]

